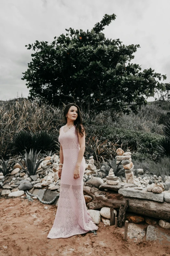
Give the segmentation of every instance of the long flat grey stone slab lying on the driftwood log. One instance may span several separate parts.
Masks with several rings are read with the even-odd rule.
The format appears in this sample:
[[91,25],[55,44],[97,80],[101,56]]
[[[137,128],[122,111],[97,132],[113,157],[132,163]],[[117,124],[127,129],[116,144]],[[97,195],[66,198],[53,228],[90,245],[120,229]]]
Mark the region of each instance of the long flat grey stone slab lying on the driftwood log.
[[148,200],[153,200],[157,202],[163,202],[163,194],[164,194],[164,193],[160,193],[160,194],[151,193],[147,191],[146,188],[143,188],[142,190],[138,190],[135,188],[122,188],[122,189],[119,189],[118,193],[123,196],[148,199]]

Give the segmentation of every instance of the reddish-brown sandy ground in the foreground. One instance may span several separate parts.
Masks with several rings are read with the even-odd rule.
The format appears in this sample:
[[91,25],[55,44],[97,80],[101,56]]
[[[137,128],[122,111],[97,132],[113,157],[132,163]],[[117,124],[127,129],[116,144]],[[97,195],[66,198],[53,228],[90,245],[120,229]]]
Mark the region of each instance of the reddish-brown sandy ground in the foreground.
[[[24,194],[25,196],[25,194]],[[7,197],[6,197],[7,198]],[[38,199],[0,198],[0,255],[1,256],[167,256],[170,245],[158,242],[134,242],[123,240],[124,229],[98,225],[97,235],[87,233],[84,237],[74,235],[69,238],[49,239],[56,206],[42,204]],[[147,224],[138,224],[147,227]],[[166,231],[165,229],[162,229]]]

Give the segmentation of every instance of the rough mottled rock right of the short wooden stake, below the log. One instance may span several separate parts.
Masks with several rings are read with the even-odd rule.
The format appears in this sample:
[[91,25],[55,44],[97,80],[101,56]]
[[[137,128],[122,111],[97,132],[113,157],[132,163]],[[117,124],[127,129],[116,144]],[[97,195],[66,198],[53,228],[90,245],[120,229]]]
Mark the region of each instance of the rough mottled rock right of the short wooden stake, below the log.
[[145,236],[146,232],[144,229],[139,228],[134,223],[128,224],[128,237],[130,239],[134,239],[137,241],[138,239],[142,240]]

